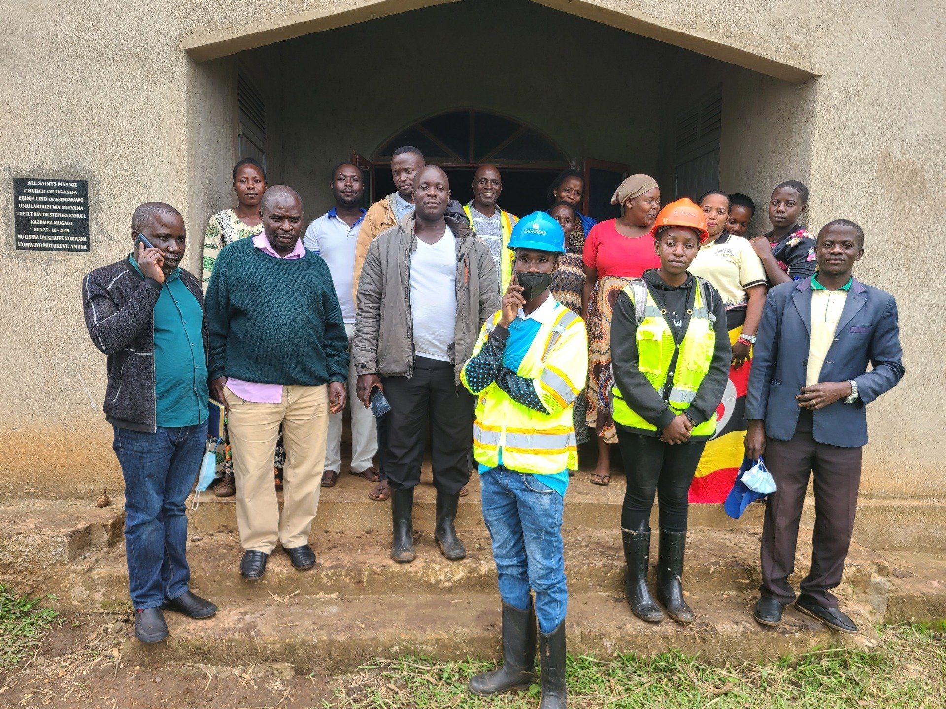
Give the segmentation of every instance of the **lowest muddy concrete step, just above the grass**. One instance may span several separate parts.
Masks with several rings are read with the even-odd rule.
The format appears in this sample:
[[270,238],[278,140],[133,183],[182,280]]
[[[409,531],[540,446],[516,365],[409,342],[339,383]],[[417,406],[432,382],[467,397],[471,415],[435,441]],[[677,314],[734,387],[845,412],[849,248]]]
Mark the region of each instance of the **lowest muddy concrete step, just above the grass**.
[[[568,649],[572,655],[611,657],[623,652],[656,655],[680,650],[710,663],[775,659],[829,644],[864,647],[870,614],[849,608],[867,630],[840,637],[787,609],[778,628],[751,618],[751,600],[735,594],[692,595],[696,622],[635,618],[621,597],[583,593],[569,597]],[[297,671],[339,672],[377,658],[409,653],[440,660],[498,659],[499,596],[496,593],[411,596],[272,597],[222,607],[212,619],[166,614],[171,637],[156,646],[129,638],[123,660],[132,665],[175,662],[249,665],[288,662]]]

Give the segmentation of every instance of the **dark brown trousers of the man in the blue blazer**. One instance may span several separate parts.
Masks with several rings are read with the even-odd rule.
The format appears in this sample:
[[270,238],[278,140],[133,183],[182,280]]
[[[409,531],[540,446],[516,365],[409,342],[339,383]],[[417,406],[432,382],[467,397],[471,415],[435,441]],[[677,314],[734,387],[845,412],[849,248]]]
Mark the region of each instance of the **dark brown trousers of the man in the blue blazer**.
[[[804,430],[804,428],[808,430]],[[801,429],[801,430],[799,430]],[[864,449],[842,448],[815,441],[811,427],[799,419],[791,441],[765,441],[765,467],[775,480],[762,523],[762,596],[791,603],[788,578],[795,571],[798,523],[805,504],[808,478],[815,476],[815,532],[812,568],[802,579],[801,593],[825,608],[837,608],[831,591],[841,582],[854,530],[857,493]]]

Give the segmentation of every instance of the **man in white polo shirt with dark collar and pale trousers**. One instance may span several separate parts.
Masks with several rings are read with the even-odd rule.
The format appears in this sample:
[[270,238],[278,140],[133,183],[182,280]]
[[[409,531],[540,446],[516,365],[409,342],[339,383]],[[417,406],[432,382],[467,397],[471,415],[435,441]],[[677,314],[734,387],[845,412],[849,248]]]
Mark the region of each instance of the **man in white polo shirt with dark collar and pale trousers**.
[[[309,251],[322,256],[332,273],[332,283],[342,305],[342,319],[349,341],[355,334],[355,300],[352,284],[355,275],[355,250],[365,211],[359,208],[364,193],[361,171],[351,163],[342,163],[332,171],[332,195],[335,206],[308,225],[303,243]],[[363,476],[372,482],[378,473],[372,461],[377,453],[377,428],[370,408],[362,406],[356,396],[358,375],[351,365],[348,387],[351,391],[352,414],[352,475]],[[322,486],[335,485],[342,470],[342,411],[328,420],[328,441],[325,448],[325,472]]]

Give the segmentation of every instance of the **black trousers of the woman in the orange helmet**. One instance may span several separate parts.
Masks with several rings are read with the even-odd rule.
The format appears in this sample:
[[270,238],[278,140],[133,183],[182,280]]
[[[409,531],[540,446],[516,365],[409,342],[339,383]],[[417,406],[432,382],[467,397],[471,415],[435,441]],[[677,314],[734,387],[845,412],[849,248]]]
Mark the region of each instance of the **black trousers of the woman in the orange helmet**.
[[649,529],[654,497],[659,493],[660,528],[686,531],[690,484],[706,441],[669,445],[656,436],[644,436],[622,425],[616,428],[627,478],[621,526],[634,531]]

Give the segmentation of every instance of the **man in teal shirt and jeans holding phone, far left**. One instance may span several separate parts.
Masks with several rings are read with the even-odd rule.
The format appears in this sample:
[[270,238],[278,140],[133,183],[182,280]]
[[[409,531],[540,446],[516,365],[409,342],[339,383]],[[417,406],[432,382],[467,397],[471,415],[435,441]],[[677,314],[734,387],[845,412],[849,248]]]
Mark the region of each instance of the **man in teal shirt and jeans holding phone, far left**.
[[125,477],[125,550],[134,633],[167,637],[162,608],[208,618],[188,589],[184,501],[207,441],[207,330],[201,282],[181,268],[184,219],[164,202],[131,216],[133,251],[82,281],[85,324],[109,355],[105,419]]

